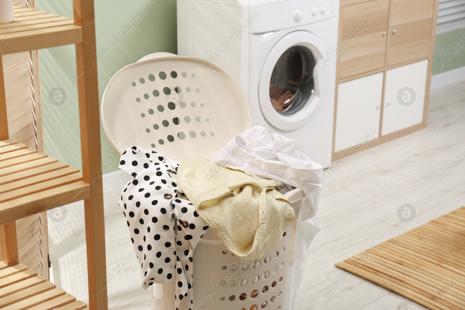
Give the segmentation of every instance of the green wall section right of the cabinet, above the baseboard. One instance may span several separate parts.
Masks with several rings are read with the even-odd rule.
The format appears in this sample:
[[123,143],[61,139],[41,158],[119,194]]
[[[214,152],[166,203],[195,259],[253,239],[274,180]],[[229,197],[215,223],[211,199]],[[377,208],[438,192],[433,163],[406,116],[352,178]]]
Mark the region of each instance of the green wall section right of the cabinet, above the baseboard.
[[461,66],[465,66],[465,28],[436,35],[433,75]]

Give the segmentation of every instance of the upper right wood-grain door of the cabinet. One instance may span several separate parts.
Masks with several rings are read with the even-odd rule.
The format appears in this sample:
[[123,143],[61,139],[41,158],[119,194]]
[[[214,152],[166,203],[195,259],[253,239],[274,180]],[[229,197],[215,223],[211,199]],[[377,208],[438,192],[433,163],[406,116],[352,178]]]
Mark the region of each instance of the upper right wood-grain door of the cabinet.
[[432,40],[432,0],[391,0],[387,66],[428,57]]

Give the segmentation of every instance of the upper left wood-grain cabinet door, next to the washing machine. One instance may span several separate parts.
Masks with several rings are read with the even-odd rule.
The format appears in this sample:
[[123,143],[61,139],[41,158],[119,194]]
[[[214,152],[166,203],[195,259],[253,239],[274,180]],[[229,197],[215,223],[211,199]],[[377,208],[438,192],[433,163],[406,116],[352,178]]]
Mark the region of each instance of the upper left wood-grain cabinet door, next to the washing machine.
[[339,76],[352,76],[385,66],[387,35],[384,32],[389,0],[385,1],[372,0],[341,7]]

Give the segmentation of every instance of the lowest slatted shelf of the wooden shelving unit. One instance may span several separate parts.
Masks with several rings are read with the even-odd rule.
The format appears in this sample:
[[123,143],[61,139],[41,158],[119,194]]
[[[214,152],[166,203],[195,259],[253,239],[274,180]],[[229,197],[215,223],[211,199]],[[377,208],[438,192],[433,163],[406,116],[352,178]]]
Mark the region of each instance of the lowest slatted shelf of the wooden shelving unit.
[[4,310],[80,310],[87,305],[76,301],[46,278],[24,264],[4,268],[0,274],[0,308]]

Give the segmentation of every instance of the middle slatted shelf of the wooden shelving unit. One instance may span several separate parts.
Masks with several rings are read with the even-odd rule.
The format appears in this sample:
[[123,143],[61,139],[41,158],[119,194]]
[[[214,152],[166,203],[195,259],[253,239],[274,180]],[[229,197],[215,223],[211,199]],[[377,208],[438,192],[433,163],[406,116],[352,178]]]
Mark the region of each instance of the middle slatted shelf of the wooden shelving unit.
[[89,197],[78,169],[22,143],[0,141],[0,224]]

